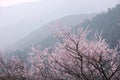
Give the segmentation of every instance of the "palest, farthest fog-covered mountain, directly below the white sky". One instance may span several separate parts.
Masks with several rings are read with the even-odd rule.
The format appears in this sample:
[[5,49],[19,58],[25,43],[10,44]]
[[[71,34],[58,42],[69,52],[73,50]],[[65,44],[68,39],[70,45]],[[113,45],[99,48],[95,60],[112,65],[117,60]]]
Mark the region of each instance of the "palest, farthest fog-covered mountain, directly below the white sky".
[[0,7],[0,48],[63,16],[106,11],[119,0],[43,0]]

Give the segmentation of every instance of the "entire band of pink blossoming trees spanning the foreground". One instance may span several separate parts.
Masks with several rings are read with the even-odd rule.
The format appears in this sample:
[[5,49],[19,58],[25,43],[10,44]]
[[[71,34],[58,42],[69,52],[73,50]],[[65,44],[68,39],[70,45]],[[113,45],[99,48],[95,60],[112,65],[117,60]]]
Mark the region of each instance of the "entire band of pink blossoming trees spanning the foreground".
[[0,80],[119,80],[119,44],[111,48],[101,34],[63,28],[53,50],[33,48],[27,61],[0,54]]

